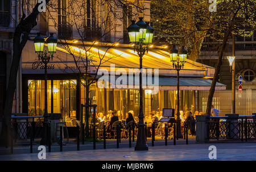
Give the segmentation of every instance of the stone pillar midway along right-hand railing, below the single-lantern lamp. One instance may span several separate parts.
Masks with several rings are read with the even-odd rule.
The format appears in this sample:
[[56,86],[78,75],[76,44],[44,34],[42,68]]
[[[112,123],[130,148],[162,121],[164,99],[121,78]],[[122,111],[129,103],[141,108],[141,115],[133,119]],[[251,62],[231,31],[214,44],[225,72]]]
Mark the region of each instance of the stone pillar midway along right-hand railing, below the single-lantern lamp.
[[238,117],[239,114],[226,114],[228,118],[226,119],[226,122],[229,123],[229,139],[238,139]]

